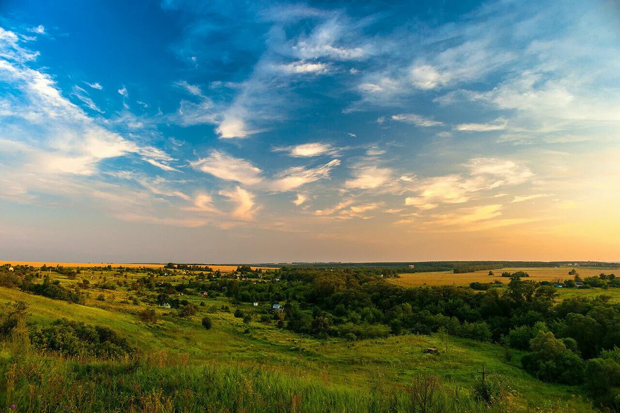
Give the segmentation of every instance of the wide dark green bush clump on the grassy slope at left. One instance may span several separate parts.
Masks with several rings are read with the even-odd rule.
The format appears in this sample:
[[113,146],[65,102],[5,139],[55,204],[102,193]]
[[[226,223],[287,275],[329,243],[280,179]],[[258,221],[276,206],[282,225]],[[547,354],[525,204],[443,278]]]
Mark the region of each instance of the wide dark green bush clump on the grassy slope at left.
[[57,319],[51,326],[30,332],[30,341],[41,349],[70,356],[122,357],[133,353],[127,340],[108,327]]

